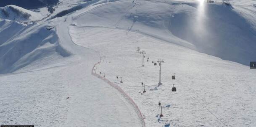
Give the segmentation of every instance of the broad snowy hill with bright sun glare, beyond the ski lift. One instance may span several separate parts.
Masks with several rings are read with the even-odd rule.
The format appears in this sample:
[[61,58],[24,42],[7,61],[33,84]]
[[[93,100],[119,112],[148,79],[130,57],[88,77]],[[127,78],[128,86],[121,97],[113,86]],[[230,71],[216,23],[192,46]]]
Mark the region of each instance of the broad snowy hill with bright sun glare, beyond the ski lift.
[[[158,7],[161,9],[156,10]],[[256,29],[248,22],[232,7],[222,4],[126,1],[78,16],[75,24],[135,30],[248,65],[256,59]]]

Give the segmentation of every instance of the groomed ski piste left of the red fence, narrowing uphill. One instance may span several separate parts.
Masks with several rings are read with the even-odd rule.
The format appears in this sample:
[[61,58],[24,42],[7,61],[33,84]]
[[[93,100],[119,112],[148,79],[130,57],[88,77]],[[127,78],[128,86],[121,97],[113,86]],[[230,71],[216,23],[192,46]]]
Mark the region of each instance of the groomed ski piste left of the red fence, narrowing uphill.
[[73,54],[65,60],[69,64],[0,75],[1,125],[143,127],[133,105],[91,74],[94,64],[100,61],[98,53],[72,43],[69,23],[62,21],[56,19],[53,23],[59,43]]

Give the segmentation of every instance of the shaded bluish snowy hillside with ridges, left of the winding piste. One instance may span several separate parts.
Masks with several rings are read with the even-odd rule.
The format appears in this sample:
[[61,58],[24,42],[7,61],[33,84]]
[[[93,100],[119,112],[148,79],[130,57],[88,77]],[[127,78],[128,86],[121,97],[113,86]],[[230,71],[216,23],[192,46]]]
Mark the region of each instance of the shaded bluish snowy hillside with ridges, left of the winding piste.
[[58,36],[53,26],[32,26],[15,21],[3,20],[0,30],[0,74],[11,73],[37,60],[45,66],[52,59],[70,56],[59,45]]

